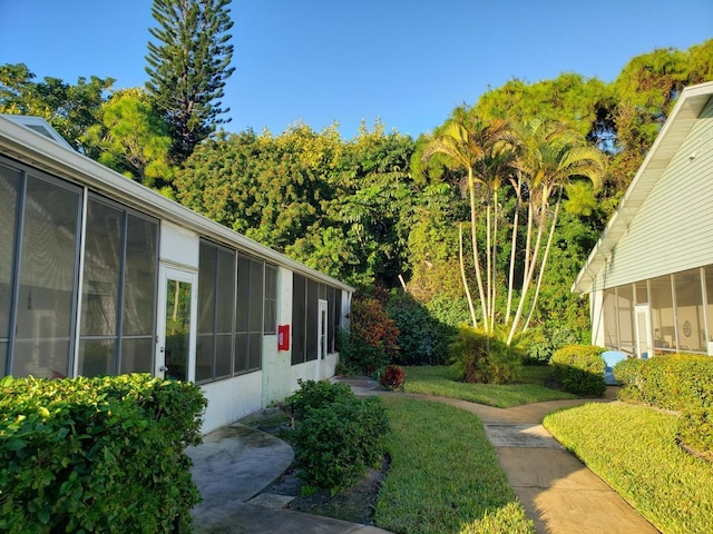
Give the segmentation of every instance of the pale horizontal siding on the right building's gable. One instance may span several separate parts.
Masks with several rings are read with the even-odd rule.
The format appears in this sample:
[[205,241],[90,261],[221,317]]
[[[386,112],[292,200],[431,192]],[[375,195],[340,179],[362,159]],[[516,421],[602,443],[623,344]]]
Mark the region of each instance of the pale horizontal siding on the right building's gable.
[[616,244],[595,287],[713,264],[713,100]]

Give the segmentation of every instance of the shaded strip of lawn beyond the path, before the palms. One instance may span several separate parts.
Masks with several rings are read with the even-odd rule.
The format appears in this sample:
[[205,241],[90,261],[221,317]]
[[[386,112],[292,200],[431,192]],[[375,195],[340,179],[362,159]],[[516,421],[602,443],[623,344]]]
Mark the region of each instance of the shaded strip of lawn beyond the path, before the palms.
[[525,383],[512,385],[458,382],[453,369],[448,366],[404,367],[403,372],[406,376],[403,388],[407,393],[458,398],[498,408],[577,398],[569,393],[544,386],[551,372],[547,366],[526,366],[522,378]]

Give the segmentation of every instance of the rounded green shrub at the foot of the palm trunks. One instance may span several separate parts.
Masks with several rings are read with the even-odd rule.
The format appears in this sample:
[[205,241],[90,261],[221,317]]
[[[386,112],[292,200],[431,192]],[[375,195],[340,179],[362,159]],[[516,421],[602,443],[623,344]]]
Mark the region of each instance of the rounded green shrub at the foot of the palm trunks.
[[508,384],[521,376],[518,350],[497,337],[461,326],[450,344],[451,365],[463,382]]

